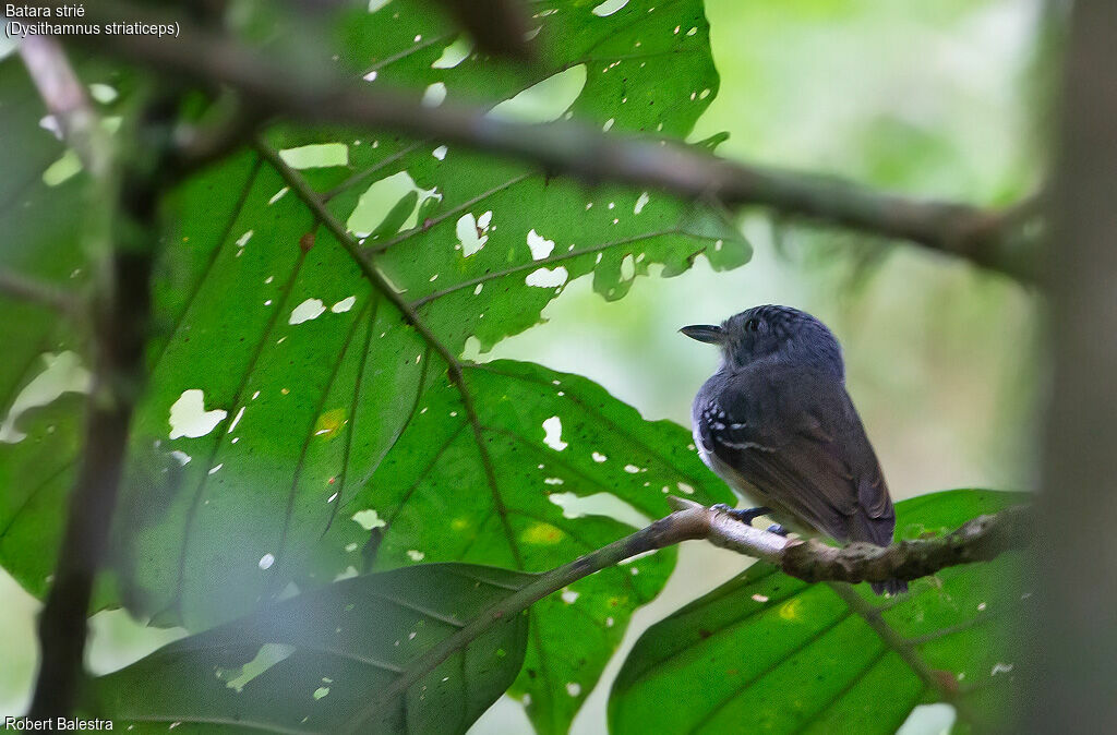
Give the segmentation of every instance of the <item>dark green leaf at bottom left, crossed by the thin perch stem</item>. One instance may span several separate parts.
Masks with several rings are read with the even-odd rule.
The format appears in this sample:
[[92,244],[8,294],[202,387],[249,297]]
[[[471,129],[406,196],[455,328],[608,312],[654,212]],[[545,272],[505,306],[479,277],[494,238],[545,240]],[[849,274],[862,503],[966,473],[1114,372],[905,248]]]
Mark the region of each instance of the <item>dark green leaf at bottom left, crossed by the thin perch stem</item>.
[[[140,732],[181,724],[333,733],[369,715],[362,732],[464,733],[519,671],[526,614],[494,623],[395,696],[384,690],[531,579],[424,564],[343,580],[95,679],[87,707]],[[369,712],[370,703],[381,707]]]

